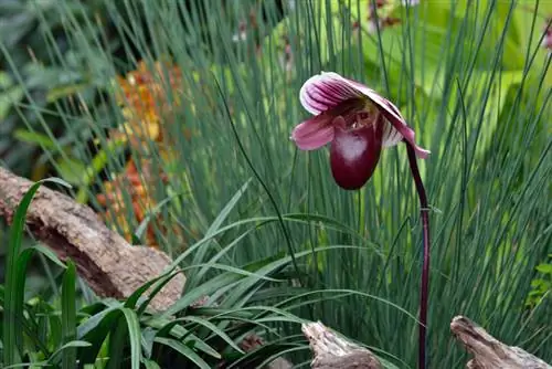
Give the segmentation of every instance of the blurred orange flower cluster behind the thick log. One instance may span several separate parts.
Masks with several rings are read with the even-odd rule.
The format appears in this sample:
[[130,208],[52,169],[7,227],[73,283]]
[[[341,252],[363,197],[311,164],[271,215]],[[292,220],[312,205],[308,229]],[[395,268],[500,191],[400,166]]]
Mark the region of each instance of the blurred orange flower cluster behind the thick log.
[[[125,77],[117,77],[118,85],[116,101],[121,106],[125,123],[117,130],[113,130],[110,139],[127,143],[135,148],[140,148],[138,152],[144,152],[150,145],[148,140],[164,143],[167,135],[163,135],[167,123],[171,123],[171,106],[181,104],[182,96],[182,72],[176,65],[156,62],[153,70],[141,61],[136,71],[128,73]],[[167,98],[167,89],[170,88],[173,101]],[[190,131],[184,130],[187,139],[190,139]],[[164,136],[164,138],[163,138]],[[167,145],[158,145],[160,157],[170,160],[174,157]],[[140,172],[136,164],[140,164]],[[97,194],[96,199],[102,207],[108,208],[104,213],[104,219],[109,223],[119,224],[123,236],[127,241],[132,239],[132,228],[142,222],[148,213],[156,207],[156,201],[148,191],[155,186],[153,180],[161,178],[167,182],[167,175],[161,170],[155,170],[147,158],[130,159],[125,170],[113,180],[104,182],[104,193]],[[130,207],[124,201],[126,191],[130,198]],[[128,219],[128,213],[134,214],[134,221]],[[134,223],[134,224],[131,224]],[[156,242],[155,229],[167,232],[167,229],[158,220],[151,219],[146,231],[146,243],[159,247]]]

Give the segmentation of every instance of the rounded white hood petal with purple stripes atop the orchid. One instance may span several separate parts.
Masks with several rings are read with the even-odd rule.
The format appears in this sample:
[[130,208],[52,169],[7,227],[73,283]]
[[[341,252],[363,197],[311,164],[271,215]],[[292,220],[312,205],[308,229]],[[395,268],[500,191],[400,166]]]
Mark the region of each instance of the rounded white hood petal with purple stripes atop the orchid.
[[310,114],[318,115],[350,98],[364,97],[339,74],[329,72],[311,76],[299,91],[299,101]]

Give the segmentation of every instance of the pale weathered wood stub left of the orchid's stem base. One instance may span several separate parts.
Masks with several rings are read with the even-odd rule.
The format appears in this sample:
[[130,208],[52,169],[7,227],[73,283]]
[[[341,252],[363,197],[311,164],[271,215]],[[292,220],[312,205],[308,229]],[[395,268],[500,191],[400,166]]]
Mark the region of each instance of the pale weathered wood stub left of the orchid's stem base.
[[380,360],[368,349],[338,337],[320,321],[301,326],[315,354],[314,369],[381,369]]

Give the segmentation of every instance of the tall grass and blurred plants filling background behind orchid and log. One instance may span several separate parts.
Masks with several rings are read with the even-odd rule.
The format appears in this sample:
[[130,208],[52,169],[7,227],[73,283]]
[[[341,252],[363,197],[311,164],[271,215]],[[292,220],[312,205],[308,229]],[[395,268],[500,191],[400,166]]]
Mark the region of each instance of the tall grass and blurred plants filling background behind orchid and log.
[[[336,71],[389,96],[433,152],[421,162],[434,207],[432,367],[464,360],[449,345],[456,314],[551,360],[552,6],[417,2],[4,0],[0,160],[64,179],[129,242],[185,266],[253,271],[302,252],[268,264],[288,284],[244,283],[240,299],[229,282],[212,302],[297,298],[289,312],[408,367],[421,230],[404,148],[351,193],[323,150],[288,140],[306,118],[301,84]],[[64,268],[33,261],[28,297],[60,298]],[[221,273],[190,271],[187,293]],[[114,306],[79,286],[87,314]],[[159,329],[148,319],[142,338]]]

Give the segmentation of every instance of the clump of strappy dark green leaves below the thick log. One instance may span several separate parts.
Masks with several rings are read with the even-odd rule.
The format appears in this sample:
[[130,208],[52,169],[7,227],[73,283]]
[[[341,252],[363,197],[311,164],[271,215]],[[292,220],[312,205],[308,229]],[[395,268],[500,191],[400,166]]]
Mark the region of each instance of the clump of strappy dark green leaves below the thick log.
[[[57,179],[44,181],[65,183]],[[289,259],[258,261],[240,270],[217,265],[215,260],[221,255],[215,255],[214,261],[208,262],[208,265],[199,264],[195,267],[221,267],[226,268],[226,272],[206,282],[189,284],[188,294],[174,306],[166,312],[155,313],[148,310],[149,302],[180,272],[169,271],[146,283],[126,302],[103,299],[77,307],[75,265],[68,261],[64,266],[54,255],[47,254],[56,264],[65,267],[59,301],[61,309],[56,307],[56,303],[51,304],[40,297],[25,303],[22,295],[24,274],[29,257],[35,249],[20,252],[20,242],[26,209],[44,181],[35,183],[25,194],[11,229],[8,251],[10,274],[7,275],[7,287],[1,295],[4,306],[2,350],[7,367],[24,362],[36,367],[74,368],[75,362],[78,362],[106,368],[140,368],[141,362],[146,366],[157,362],[161,367],[182,367],[187,362],[193,362],[200,368],[211,368],[221,360],[226,365],[234,361],[237,365],[244,360],[253,365],[266,359],[266,350],[270,355],[279,355],[283,349],[290,347],[306,348],[301,341],[295,345],[272,345],[268,340],[268,345],[255,356],[245,355],[236,344],[257,330],[262,336],[277,335],[278,329],[269,327],[272,323],[282,325],[302,321],[289,314],[285,304],[268,307],[261,304],[263,299],[252,301],[251,291],[265,291],[264,299],[270,299],[270,294],[278,287],[273,285],[267,288],[265,284],[284,282],[279,273],[289,264]],[[232,210],[236,200],[237,198],[227,204],[225,212]],[[208,235],[206,240],[214,238],[220,225],[217,222],[213,224],[213,234]],[[216,288],[213,289],[215,280]],[[242,287],[235,288],[240,282]],[[144,299],[141,295],[150,287],[152,292]],[[215,298],[221,307],[202,308],[194,306],[193,303],[197,302],[190,299],[190,296],[202,297],[205,293],[211,295],[213,292],[231,288],[235,289],[232,295]],[[283,292],[284,295],[287,294],[285,289]],[[20,329],[21,326],[24,327],[23,330]]]

